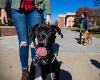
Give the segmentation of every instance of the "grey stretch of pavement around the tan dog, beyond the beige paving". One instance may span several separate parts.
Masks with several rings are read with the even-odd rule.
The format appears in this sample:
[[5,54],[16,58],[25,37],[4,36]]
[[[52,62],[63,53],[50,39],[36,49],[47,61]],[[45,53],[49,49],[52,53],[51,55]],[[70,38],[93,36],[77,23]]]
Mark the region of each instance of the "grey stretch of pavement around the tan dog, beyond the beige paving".
[[99,53],[100,54],[100,39],[93,38],[92,45],[86,47],[78,44],[79,33],[69,30],[62,30],[64,38],[57,37],[56,42],[60,45],[60,52],[64,53]]

